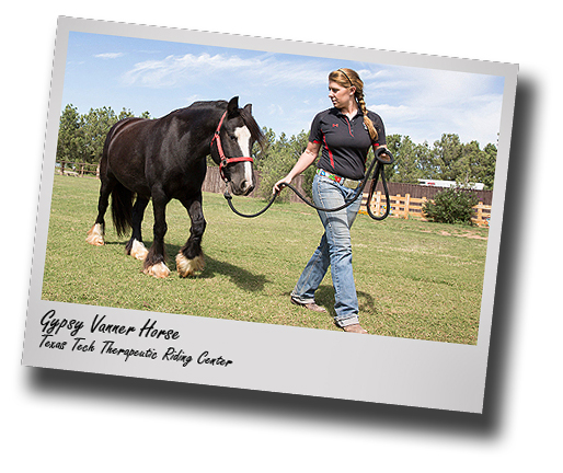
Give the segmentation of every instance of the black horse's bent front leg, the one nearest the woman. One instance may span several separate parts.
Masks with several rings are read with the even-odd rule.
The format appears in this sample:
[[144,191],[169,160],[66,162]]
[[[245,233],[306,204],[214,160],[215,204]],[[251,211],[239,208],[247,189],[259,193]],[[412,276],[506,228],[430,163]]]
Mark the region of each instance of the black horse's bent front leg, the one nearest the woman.
[[202,210],[200,194],[195,199],[183,199],[181,201],[192,219],[192,227],[186,244],[182,246],[176,255],[176,268],[180,276],[187,277],[204,268],[202,238],[205,232],[206,222]]

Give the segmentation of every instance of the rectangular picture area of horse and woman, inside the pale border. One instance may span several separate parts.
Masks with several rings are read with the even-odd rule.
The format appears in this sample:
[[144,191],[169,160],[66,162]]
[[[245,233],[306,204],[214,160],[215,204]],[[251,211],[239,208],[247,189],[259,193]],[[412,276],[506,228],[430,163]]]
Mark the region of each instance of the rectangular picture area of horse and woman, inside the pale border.
[[42,298],[475,345],[503,93],[70,32]]

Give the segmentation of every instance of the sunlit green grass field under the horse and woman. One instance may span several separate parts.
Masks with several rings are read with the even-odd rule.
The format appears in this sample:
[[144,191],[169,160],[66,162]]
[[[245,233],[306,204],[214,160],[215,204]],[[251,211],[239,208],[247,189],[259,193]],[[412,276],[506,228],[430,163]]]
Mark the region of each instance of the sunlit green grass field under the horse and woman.
[[[330,274],[317,302],[319,314],[289,303],[289,292],[322,234],[313,209],[276,204],[244,219],[220,194],[204,195],[206,267],[183,279],[174,257],[188,236],[189,218],[179,201],[166,208],[168,279],[142,274],[126,256],[106,219],[106,245],[85,242],[97,207],[99,181],[55,176],[43,299],[248,322],[340,330],[333,324]],[[289,192],[289,191],[286,191]],[[260,199],[234,198],[244,212]],[[359,215],[353,227],[354,274],[360,322],[371,334],[476,344],[487,230]],[[152,242],[152,210],[143,221]]]

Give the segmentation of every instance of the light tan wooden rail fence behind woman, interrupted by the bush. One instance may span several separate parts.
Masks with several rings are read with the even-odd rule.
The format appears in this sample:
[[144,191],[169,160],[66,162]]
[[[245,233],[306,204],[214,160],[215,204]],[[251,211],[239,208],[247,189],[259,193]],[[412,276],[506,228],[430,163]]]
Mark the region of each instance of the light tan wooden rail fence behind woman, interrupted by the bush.
[[[412,197],[411,194],[406,194],[404,196],[397,194],[390,195],[389,197],[391,200],[391,211],[389,212],[389,217],[427,220],[423,211],[424,204],[429,200],[427,197],[423,196],[417,198]],[[360,214],[367,214],[367,199],[368,193],[365,193],[361,199],[361,207],[359,209]],[[382,215],[386,211],[386,208],[387,198],[384,194],[377,191],[371,199],[371,212],[376,216]],[[489,221],[491,219],[491,206],[480,201],[476,206],[473,206],[473,209],[475,210],[475,215],[471,218],[471,221],[479,227],[489,227]]]

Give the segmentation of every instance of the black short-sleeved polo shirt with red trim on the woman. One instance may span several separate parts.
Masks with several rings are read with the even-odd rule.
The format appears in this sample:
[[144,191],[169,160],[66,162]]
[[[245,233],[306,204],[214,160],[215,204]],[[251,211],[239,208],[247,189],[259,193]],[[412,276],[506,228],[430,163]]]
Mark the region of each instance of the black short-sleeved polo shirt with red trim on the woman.
[[313,119],[309,135],[309,141],[323,147],[317,168],[352,180],[364,178],[369,147],[377,148],[387,143],[381,117],[370,111],[368,117],[378,132],[378,140],[375,143],[371,143],[360,111],[352,120],[338,108],[319,113]]

